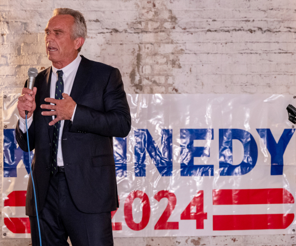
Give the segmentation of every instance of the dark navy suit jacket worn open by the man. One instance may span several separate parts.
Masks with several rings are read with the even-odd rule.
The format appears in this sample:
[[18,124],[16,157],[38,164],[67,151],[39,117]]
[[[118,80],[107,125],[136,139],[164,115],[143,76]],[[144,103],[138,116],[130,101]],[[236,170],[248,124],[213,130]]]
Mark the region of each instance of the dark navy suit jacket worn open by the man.
[[[118,207],[112,137],[126,137],[131,116],[120,72],[83,56],[70,96],[77,104],[73,123],[65,121],[63,160],[71,196],[78,210],[94,214]],[[53,126],[51,116],[41,115],[44,98],[50,97],[51,67],[38,73],[36,110],[28,134],[35,149],[32,172],[38,211],[43,207],[50,177]],[[49,103],[47,103],[49,104]],[[27,136],[16,127],[16,139],[28,151]],[[26,215],[36,216],[31,175],[26,197]]]

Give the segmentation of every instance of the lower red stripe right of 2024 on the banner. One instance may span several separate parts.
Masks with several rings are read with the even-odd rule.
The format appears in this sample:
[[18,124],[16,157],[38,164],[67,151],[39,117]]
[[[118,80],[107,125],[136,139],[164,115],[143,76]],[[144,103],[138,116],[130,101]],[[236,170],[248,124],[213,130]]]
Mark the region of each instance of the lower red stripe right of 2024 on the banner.
[[213,215],[214,231],[286,229],[294,214]]

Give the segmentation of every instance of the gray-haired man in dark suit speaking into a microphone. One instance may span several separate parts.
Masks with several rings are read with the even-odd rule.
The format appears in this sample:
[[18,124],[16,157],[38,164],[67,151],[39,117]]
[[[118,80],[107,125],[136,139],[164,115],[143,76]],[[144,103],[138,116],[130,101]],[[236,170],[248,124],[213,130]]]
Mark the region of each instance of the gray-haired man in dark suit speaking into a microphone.
[[[118,207],[112,137],[125,137],[131,116],[119,70],[79,56],[83,15],[58,8],[45,28],[52,66],[18,100],[16,138],[35,149],[32,173],[43,246],[113,245],[111,211]],[[32,175],[32,174],[31,174]],[[26,197],[33,246],[39,245],[31,175]]]

